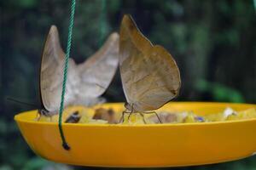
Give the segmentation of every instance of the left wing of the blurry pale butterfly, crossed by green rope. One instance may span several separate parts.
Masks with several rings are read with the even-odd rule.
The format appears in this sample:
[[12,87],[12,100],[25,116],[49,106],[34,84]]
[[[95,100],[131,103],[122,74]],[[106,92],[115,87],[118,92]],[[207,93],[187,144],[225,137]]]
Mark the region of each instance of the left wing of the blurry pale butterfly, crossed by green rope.
[[[44,44],[39,84],[44,108],[53,114],[56,114],[61,104],[64,63],[65,53],[61,49],[58,30],[51,26]],[[72,88],[77,83],[75,67],[73,59],[69,59],[65,105],[72,103],[74,99]]]

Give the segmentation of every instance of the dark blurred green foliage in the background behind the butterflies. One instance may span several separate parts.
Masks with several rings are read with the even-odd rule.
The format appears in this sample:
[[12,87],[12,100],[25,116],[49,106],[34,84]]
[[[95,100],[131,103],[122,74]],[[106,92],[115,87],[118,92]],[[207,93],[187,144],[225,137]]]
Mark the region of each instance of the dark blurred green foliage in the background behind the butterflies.
[[[22,139],[13,117],[36,109],[7,97],[40,105],[38,71],[51,25],[66,48],[70,1],[0,2],[0,170],[86,169],[45,161]],[[123,14],[154,44],[177,60],[182,88],[175,100],[256,103],[256,13],[253,0],[78,0],[72,57],[82,62],[100,48],[111,31],[119,31]],[[104,96],[125,101],[116,75]],[[173,168],[176,169],[176,168]],[[256,169],[256,157],[210,166],[177,169]]]

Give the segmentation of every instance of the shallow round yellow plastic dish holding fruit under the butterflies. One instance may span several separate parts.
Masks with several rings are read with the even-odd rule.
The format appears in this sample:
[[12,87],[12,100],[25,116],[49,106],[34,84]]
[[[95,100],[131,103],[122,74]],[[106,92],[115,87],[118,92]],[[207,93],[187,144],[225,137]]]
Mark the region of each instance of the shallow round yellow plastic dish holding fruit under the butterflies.
[[[124,104],[105,104],[114,111]],[[199,116],[256,105],[172,102],[160,111],[193,111]],[[79,107],[77,107],[79,110]],[[50,161],[96,167],[178,167],[241,159],[256,153],[256,119],[176,124],[63,123],[70,150],[61,146],[56,122],[36,122],[37,111],[15,116],[27,144]]]

